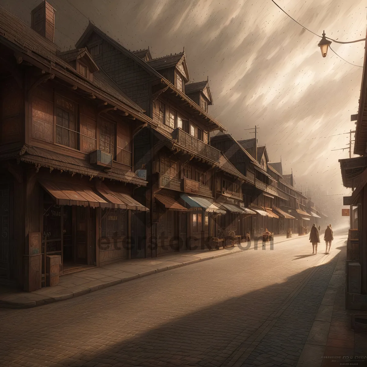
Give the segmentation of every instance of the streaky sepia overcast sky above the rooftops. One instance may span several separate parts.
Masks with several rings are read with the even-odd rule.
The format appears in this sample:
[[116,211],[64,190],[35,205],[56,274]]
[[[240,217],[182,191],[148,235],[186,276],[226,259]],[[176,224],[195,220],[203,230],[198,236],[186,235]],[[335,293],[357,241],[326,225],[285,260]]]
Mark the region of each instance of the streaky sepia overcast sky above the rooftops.
[[[343,189],[338,159],[347,158],[355,129],[362,68],[326,58],[319,37],[270,0],[50,0],[56,9],[55,43],[74,47],[88,18],[130,50],[150,47],[153,58],[181,52],[193,81],[209,76],[209,112],[237,139],[259,127],[270,161],[283,162],[297,184],[328,193]],[[366,0],[276,0],[298,22],[340,41],[366,37]],[[40,0],[1,0],[30,25]],[[364,42],[333,43],[342,58],[363,65]],[[336,136],[331,136],[336,135]],[[342,196],[340,196],[342,200]]]

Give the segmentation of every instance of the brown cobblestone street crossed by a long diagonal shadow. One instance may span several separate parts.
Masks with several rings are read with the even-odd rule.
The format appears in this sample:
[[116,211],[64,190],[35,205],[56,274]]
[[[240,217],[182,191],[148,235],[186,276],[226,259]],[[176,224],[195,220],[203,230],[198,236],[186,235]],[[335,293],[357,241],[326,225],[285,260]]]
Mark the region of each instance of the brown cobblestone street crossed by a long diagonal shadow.
[[[296,366],[345,251],[308,237],[1,309],[1,366]],[[315,267],[316,266],[316,267]]]

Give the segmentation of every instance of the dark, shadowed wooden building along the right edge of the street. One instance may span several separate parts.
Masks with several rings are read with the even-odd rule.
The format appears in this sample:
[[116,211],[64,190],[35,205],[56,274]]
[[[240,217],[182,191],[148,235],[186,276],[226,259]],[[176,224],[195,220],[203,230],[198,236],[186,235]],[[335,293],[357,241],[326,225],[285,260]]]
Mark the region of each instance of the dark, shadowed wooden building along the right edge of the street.
[[[343,185],[354,189],[343,204],[357,207],[347,242],[346,308],[367,310],[367,41],[365,45],[359,108],[356,122],[354,154],[360,157],[341,159]],[[357,225],[353,219],[357,217]],[[354,227],[354,228],[353,228]]]

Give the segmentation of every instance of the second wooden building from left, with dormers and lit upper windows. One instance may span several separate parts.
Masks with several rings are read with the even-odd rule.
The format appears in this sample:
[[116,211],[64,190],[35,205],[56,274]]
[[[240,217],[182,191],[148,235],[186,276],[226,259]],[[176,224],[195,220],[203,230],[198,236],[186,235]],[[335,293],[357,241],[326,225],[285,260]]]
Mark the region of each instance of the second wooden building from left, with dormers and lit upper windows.
[[[203,248],[221,230],[223,236],[237,233],[223,228],[226,210],[215,200],[217,194],[228,196],[237,211],[246,213],[239,205],[245,177],[210,145],[210,132],[225,127],[208,114],[208,81],[189,83],[185,52],[153,59],[149,49],[130,52],[92,24],[77,47],[86,47],[98,67],[153,120],[134,137],[134,169],[145,168],[148,181],[135,191],[150,209],[145,255]],[[222,188],[224,180],[228,189]]]

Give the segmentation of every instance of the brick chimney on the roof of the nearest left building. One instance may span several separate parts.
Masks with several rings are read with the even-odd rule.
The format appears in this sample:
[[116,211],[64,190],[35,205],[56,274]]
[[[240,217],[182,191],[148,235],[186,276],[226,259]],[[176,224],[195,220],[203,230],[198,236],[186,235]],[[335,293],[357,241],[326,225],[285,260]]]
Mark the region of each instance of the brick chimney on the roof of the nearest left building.
[[32,29],[51,42],[54,42],[55,9],[47,1],[42,1],[39,6],[32,10],[31,14]]

